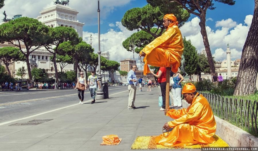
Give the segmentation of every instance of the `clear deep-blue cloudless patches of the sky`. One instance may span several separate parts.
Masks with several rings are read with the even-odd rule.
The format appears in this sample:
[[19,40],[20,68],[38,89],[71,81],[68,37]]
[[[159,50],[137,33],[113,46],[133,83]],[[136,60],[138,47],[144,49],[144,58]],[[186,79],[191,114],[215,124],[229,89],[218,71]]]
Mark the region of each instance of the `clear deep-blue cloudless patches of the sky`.
[[[100,1],[100,5],[101,1]],[[124,13],[132,8],[135,7],[144,7],[147,5],[147,2],[145,0],[137,0],[137,1],[131,1],[130,3],[116,7],[113,12],[111,12],[106,18],[101,18],[101,26],[100,26],[100,33],[105,33],[109,30],[109,23],[114,23],[116,21],[121,21],[121,19],[124,16]],[[237,0],[235,5],[230,6],[227,4],[215,2],[214,5],[216,8],[215,10],[208,10],[206,19],[212,18],[213,21],[206,21],[206,25],[210,26],[212,29],[215,29],[215,21],[231,18],[237,23],[244,23],[244,19],[246,15],[253,15],[254,12],[254,1],[253,0]],[[103,10],[100,10],[100,15],[102,15]],[[96,17],[97,17],[97,9],[96,9]],[[191,14],[189,20],[196,17],[195,15]],[[98,25],[97,24],[97,18],[96,20],[91,23],[91,25],[85,24],[83,27],[84,31],[89,32],[98,32]]]

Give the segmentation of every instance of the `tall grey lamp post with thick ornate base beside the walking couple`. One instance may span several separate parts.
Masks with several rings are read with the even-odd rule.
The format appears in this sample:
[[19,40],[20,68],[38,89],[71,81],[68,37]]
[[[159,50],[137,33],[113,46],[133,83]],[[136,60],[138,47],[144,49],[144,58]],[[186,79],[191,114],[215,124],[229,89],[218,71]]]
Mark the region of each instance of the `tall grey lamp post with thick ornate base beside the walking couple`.
[[97,96],[96,96],[96,99],[97,100],[102,100],[104,99],[104,92],[102,91],[102,76],[101,76],[101,70],[100,70],[100,54],[101,54],[101,51],[100,51],[100,23],[99,23],[99,12],[100,12],[100,9],[99,9],[99,0],[98,0],[98,36],[99,36],[99,51],[98,51],[98,55],[99,55],[99,74],[98,74],[98,81],[100,83],[100,87],[98,89],[98,91],[96,92],[97,93]]

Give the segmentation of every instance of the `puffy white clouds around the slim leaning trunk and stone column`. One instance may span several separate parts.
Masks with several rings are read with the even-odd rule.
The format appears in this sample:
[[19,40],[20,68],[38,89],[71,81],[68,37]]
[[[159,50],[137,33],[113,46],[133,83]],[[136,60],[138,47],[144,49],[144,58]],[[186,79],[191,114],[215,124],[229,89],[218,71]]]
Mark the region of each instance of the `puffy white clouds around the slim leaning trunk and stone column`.
[[[245,25],[236,24],[235,21],[229,18],[216,22],[217,27],[220,27],[219,29],[212,30],[209,26],[206,26],[210,50],[213,56],[215,56],[215,60],[226,59],[225,50],[227,48],[227,43],[230,45],[231,59],[241,58],[242,49],[251,25],[252,17],[252,15],[247,15],[245,17]],[[187,40],[191,40],[198,52],[201,52],[204,48],[204,44],[200,33],[199,22],[200,19],[195,17],[191,21],[187,21],[180,30]]]

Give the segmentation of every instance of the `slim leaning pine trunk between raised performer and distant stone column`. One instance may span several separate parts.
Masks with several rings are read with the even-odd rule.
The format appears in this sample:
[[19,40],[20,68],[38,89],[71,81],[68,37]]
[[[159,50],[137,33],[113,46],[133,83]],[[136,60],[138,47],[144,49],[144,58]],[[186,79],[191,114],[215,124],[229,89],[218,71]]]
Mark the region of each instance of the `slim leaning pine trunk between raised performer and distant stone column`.
[[206,27],[205,27],[205,21],[206,21],[205,16],[206,16],[206,14],[202,14],[200,16],[199,25],[201,27],[201,35],[202,35],[202,38],[203,38],[203,44],[204,44],[205,51],[206,51],[206,54],[207,54],[207,59],[208,59],[209,65],[210,65],[210,74],[213,75],[215,73],[215,66],[214,66],[212,54],[210,52],[210,44],[209,44],[207,31],[206,31]]

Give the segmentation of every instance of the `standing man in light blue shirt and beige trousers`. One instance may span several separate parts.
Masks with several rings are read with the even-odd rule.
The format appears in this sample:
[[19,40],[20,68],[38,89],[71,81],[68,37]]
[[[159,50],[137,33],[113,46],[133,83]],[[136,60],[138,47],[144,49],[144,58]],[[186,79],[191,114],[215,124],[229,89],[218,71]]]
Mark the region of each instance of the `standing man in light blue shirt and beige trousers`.
[[127,73],[127,83],[128,83],[128,90],[129,90],[129,98],[128,98],[128,110],[137,109],[134,106],[135,101],[135,94],[136,94],[136,85],[137,85],[137,78],[135,75],[135,71],[137,69],[136,64],[131,65],[131,70]]

